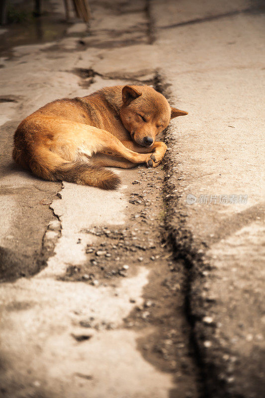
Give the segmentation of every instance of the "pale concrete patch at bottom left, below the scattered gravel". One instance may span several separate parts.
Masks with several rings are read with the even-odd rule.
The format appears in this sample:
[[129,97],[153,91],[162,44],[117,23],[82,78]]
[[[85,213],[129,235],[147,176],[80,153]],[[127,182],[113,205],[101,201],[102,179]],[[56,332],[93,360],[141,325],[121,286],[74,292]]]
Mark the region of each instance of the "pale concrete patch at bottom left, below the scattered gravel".
[[[132,391],[140,394],[145,386],[146,397],[166,397],[172,382],[141,358],[135,346],[141,334],[120,329],[122,318],[135,305],[129,298],[134,297],[138,305],[142,303],[147,270],[142,267],[137,276],[124,279],[115,288],[66,283],[54,279],[58,274],[54,262],[61,262],[60,254],[30,281],[20,279],[1,287],[1,305],[7,308],[1,314],[1,357],[13,363],[10,370],[3,367],[1,387],[6,388],[5,396],[27,397],[35,391],[47,397],[87,397],[89,388],[89,397],[122,397]],[[30,304],[10,312],[10,304],[14,305],[18,297],[18,302]],[[92,330],[91,341],[77,343],[71,335],[86,335],[79,322],[91,316],[97,322],[110,322],[112,330]],[[21,328],[23,333],[17,340]],[[121,361],[124,353],[126,363]],[[81,383],[77,373],[91,375],[91,382]],[[14,375],[15,383],[8,394]],[[102,383],[106,375],[109,382]],[[136,383],[133,389],[131,383],[123,382],[127,378]]]

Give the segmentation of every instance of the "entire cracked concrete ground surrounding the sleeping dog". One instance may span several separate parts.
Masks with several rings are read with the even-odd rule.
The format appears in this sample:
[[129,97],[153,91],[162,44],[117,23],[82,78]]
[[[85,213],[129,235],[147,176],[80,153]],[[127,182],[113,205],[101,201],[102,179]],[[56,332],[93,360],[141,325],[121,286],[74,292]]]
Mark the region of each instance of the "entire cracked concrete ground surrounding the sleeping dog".
[[[89,34],[0,30],[0,396],[263,397],[261,4],[90,6]],[[189,112],[162,166],[103,192],[12,164],[23,117],[128,83]]]

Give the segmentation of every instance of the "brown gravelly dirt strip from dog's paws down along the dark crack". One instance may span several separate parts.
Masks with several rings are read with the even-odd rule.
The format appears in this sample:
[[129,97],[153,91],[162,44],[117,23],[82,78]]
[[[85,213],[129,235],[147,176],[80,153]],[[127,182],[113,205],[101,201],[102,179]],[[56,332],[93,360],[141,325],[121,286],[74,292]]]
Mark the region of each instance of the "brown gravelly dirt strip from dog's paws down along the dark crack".
[[[172,256],[164,234],[165,207],[162,167],[138,167],[126,175],[127,223],[124,226],[94,226],[86,230],[96,243],[86,248],[87,262],[69,265],[60,280],[82,281],[92,286],[116,286],[121,278],[133,276],[138,265],[150,269],[144,288],[144,304],[124,319],[122,327],[143,330],[138,349],[144,358],[176,378],[177,391],[171,396],[198,396],[198,381],[184,314],[183,264]],[[84,231],[82,231],[84,232]],[[80,244],[77,241],[76,244]],[[135,302],[133,297],[131,302]],[[83,319],[84,330],[112,329],[111,323]],[[187,389],[187,386],[189,388]]]

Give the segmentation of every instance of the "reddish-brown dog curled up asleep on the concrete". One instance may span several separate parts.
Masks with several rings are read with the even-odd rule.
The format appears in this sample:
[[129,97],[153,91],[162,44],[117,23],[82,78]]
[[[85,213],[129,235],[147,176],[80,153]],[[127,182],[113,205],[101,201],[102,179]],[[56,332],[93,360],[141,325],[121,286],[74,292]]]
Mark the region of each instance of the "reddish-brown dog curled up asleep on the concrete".
[[149,86],[106,87],[56,100],[19,124],[13,159],[45,180],[115,189],[119,178],[102,166],[157,167],[167,146],[156,135],[186,114]]

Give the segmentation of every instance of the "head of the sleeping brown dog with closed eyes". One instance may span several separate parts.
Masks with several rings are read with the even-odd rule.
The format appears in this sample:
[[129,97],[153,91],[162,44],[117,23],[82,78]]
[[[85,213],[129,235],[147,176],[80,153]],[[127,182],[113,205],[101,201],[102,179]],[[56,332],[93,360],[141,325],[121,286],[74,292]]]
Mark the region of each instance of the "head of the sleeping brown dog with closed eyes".
[[176,116],[187,112],[172,108],[168,100],[150,86],[124,86],[122,89],[121,121],[139,145],[151,147],[156,135]]

